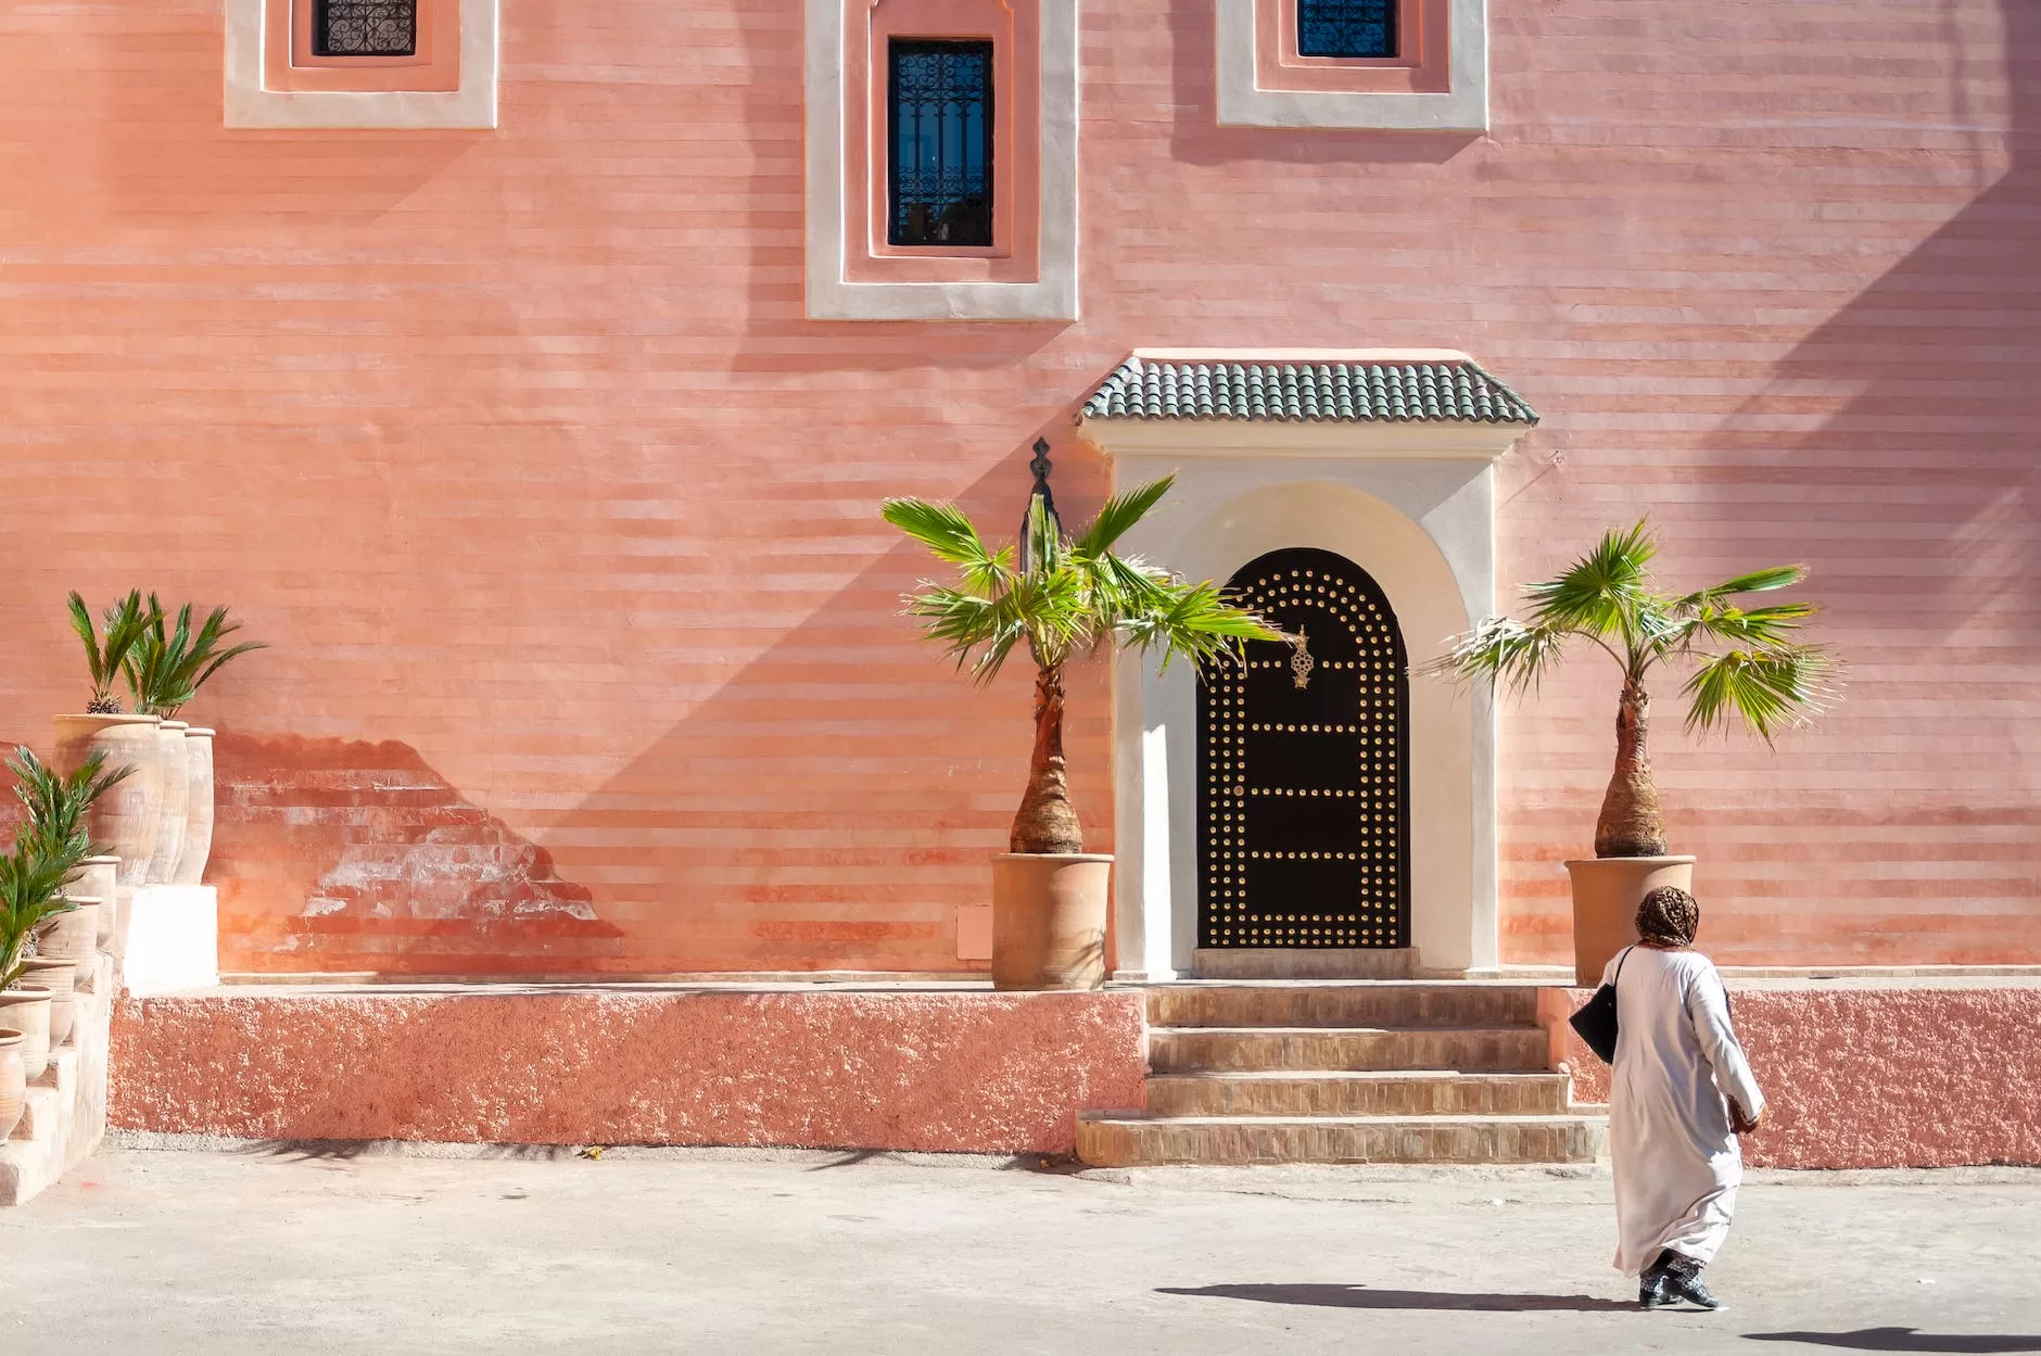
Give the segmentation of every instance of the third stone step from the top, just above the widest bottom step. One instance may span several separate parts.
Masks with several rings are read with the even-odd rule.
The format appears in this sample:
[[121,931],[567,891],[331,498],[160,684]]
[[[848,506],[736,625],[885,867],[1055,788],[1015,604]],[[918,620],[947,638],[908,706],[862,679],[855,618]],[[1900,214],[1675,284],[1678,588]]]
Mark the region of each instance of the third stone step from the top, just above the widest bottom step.
[[1221,1115],[1565,1115],[1565,1074],[1343,1070],[1161,1074],[1147,1080],[1151,1117]]

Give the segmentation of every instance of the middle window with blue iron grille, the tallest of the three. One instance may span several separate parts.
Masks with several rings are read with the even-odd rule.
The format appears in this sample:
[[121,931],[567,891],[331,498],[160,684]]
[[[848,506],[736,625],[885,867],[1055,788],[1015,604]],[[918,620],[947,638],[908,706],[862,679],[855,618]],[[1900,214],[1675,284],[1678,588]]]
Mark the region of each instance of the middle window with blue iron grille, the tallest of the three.
[[888,63],[888,243],[990,245],[992,43],[894,39]]

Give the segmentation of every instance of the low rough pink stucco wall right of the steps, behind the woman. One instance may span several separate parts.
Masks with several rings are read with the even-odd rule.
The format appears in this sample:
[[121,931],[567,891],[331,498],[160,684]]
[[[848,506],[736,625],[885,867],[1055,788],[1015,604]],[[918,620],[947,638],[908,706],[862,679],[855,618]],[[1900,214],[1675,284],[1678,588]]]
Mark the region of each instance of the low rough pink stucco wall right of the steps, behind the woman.
[[[1590,990],[1574,990],[1574,1005]],[[1765,1168],[2041,1166],[2041,984],[1731,984]],[[1608,1066],[1570,1033],[1574,1097]]]

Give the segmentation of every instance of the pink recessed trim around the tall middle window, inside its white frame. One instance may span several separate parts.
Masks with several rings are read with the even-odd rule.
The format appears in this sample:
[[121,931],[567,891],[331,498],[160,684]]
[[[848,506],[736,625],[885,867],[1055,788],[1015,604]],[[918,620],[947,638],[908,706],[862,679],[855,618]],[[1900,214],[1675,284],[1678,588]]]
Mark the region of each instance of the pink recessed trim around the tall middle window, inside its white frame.
[[[992,43],[992,247],[886,243],[890,39]],[[1033,0],[845,0],[845,278],[1035,282],[1041,278],[1041,12]],[[859,192],[861,190],[861,192]]]

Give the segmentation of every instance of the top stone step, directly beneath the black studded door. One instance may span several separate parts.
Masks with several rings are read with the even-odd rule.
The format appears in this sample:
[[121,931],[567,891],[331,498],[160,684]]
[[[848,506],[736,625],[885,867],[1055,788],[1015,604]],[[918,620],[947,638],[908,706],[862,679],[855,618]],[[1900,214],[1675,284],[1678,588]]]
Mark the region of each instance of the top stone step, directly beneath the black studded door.
[[1531,1027],[1535,984],[1157,984],[1155,1027]]

